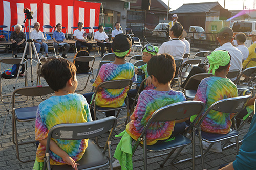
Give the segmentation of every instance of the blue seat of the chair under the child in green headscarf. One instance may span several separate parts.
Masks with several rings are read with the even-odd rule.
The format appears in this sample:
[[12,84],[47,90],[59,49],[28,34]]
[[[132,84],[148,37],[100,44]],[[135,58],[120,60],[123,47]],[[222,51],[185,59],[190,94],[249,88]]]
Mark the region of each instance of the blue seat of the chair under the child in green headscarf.
[[[239,135],[238,131],[230,129],[230,131],[228,132],[228,134],[218,134],[218,133],[208,133],[208,132],[204,132],[201,131],[202,133],[202,138],[204,138],[207,141],[219,141],[221,139],[225,139],[225,138],[231,138],[231,137],[236,137]],[[196,131],[196,135],[198,135],[198,131]]]

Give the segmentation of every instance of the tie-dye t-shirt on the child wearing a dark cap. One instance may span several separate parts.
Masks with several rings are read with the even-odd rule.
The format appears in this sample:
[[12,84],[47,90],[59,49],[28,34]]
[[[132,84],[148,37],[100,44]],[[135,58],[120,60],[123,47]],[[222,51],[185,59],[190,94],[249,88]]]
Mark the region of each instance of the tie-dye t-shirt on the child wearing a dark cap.
[[[93,83],[94,87],[105,81],[120,80],[120,79],[133,79],[134,66],[132,63],[125,63],[121,65],[108,63],[103,64],[99,70],[99,74]],[[95,97],[96,105],[100,107],[120,107],[125,105],[124,99],[127,96],[129,87],[123,89],[102,89]]]

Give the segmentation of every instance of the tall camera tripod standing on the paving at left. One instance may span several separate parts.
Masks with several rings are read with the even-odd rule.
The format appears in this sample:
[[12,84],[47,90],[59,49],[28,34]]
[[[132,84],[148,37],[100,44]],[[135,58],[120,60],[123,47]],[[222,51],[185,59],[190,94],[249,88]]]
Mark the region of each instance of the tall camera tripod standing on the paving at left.
[[[19,73],[20,73],[20,70],[22,69],[22,65],[23,65],[24,63],[26,63],[26,62],[29,62],[29,61],[30,61],[30,67],[31,67],[31,85],[33,86],[33,65],[32,65],[33,59],[32,59],[32,47],[31,47],[31,45],[33,46],[34,52],[36,52],[36,53],[35,53],[35,57],[36,57],[37,61],[36,61],[36,60],[34,60],[34,61],[39,64],[38,69],[40,70],[40,68],[41,68],[41,66],[42,66],[42,64],[41,64],[41,62],[40,62],[40,59],[39,59],[39,56],[38,56],[38,53],[37,53],[37,51],[36,51],[36,47],[35,47],[34,41],[31,39],[31,34],[30,34],[30,30],[31,30],[31,28],[30,28],[30,20],[33,19],[32,15],[31,15],[31,14],[33,14],[33,12],[26,8],[26,9],[24,9],[24,13],[26,13],[26,16],[27,16],[27,17],[25,18],[25,20],[23,21],[23,23],[25,23],[27,19],[28,19],[28,21],[29,21],[29,39],[28,39],[27,42],[26,42],[25,49],[24,49],[24,52],[23,52],[23,55],[22,55],[22,60],[20,61],[20,64],[19,64],[19,67],[18,67],[17,77],[16,77],[16,80],[15,80],[14,86],[12,87],[12,88],[13,88],[12,93],[14,92],[14,90],[15,90],[15,88],[16,88],[17,81],[18,81],[18,78],[19,78]],[[27,61],[23,62],[23,61],[24,61],[24,58],[25,58],[25,54],[26,54],[26,51],[27,51],[27,47],[28,47],[28,46],[29,46],[29,56],[28,56]],[[6,109],[7,113],[6,113],[6,117],[5,117],[5,122],[4,122],[4,125],[3,125],[3,129],[2,129],[2,132],[1,132],[1,136],[3,135],[3,132],[4,132],[4,128],[5,128],[5,124],[6,124],[6,119],[7,119],[7,116],[8,116],[8,114],[9,114],[9,109],[10,109],[10,107],[11,107],[11,103],[12,103],[12,95],[11,95],[11,99],[10,99],[10,102],[9,102],[8,109]]]

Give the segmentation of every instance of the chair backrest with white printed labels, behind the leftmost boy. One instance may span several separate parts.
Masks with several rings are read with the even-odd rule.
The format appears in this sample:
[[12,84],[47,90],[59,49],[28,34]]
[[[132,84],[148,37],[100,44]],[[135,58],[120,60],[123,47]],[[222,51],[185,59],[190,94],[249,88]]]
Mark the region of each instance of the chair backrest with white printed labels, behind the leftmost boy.
[[[61,140],[80,140],[93,138],[108,132],[112,128],[115,129],[116,124],[117,118],[114,116],[109,116],[92,122],[57,124],[53,126],[48,133],[46,153],[49,153],[51,138]],[[106,151],[106,146],[108,141],[111,140],[113,132],[114,130],[111,131],[106,141],[103,153]]]

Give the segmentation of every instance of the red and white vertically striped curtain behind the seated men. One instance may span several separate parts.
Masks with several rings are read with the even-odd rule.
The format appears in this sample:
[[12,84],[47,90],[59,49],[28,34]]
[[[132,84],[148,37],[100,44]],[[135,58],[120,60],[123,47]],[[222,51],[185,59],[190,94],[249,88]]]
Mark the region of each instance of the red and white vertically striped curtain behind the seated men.
[[[71,27],[82,22],[84,27],[99,25],[100,3],[90,3],[77,0],[0,0],[0,25],[11,26],[19,23],[25,25],[27,29],[28,21],[24,24],[24,8],[29,8],[34,12],[31,25],[35,22],[43,25],[56,26],[61,23],[71,33]],[[7,30],[3,29],[3,30]],[[28,30],[27,30],[28,31]]]

